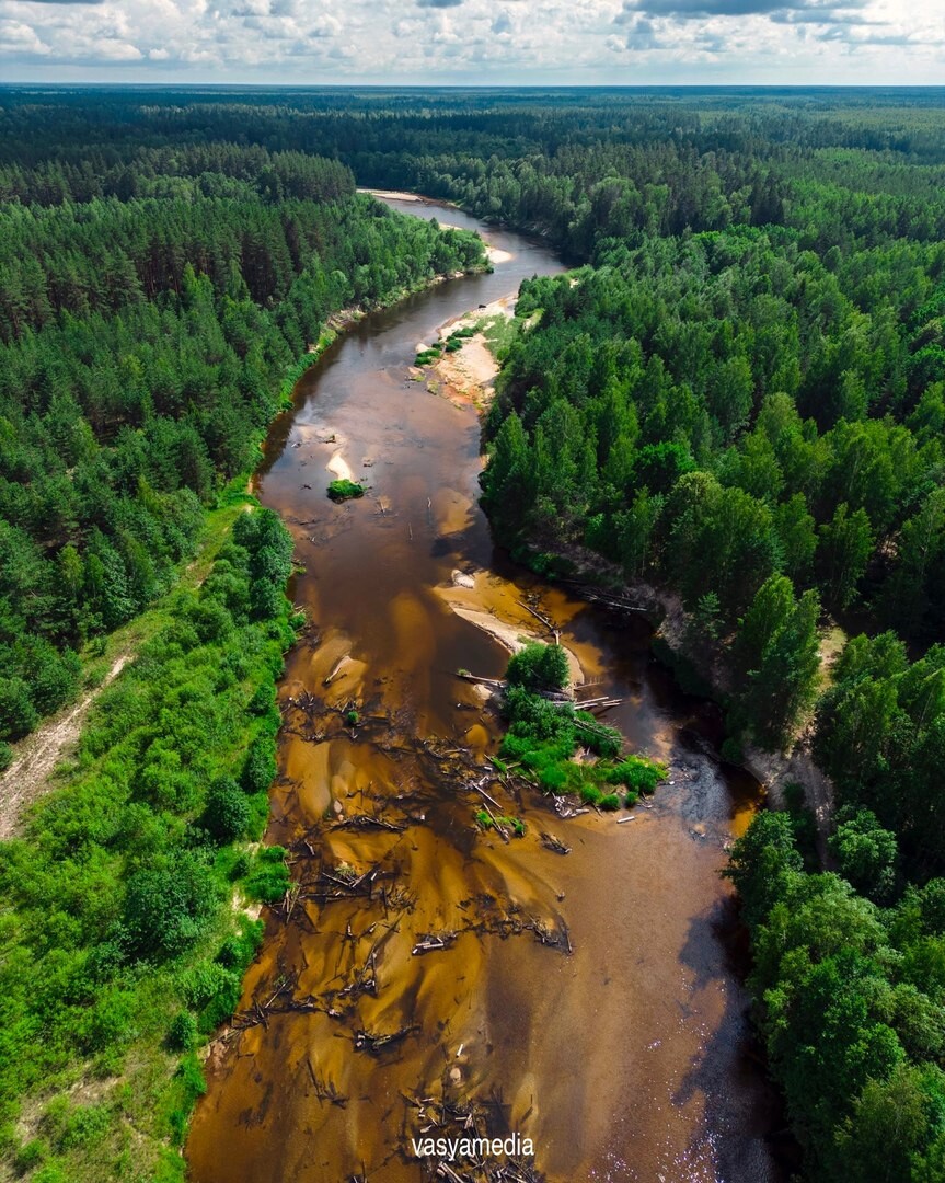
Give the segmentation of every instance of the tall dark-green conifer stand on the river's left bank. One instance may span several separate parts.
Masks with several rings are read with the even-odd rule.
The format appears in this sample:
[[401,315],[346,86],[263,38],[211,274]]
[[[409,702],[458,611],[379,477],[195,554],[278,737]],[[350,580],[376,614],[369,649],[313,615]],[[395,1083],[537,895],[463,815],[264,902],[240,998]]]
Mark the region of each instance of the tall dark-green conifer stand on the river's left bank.
[[343,166],[293,159],[308,196],[284,198],[264,151],[192,156],[266,196],[0,207],[0,763],[76,692],[76,652],[169,587],[326,318],[483,265]]

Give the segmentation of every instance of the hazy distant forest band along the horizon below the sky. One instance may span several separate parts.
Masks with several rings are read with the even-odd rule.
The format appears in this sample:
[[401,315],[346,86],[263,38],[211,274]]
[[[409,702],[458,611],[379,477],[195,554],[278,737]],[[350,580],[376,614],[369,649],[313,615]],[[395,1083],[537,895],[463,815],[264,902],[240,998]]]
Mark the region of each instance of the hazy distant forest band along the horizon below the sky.
[[[945,237],[941,131],[939,104],[921,90],[315,90],[213,102],[169,90],[103,92],[95,104],[76,91],[40,108],[9,91],[0,193],[44,205],[219,185],[308,196],[300,186],[338,183],[312,179],[313,153],[347,163],[361,185],[457,200],[578,258],[608,235],[732,225],[789,226],[827,250],[850,234]],[[255,174],[235,144],[255,154]]]

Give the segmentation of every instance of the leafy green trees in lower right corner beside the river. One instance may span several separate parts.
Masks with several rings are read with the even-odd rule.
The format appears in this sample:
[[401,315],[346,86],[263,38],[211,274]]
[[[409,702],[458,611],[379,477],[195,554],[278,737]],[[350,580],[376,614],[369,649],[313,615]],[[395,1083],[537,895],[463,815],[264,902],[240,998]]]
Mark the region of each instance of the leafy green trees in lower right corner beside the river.
[[763,813],[726,872],[749,985],[811,1178],[945,1179],[945,649],[849,641],[814,751],[839,809],[820,870],[813,816]]

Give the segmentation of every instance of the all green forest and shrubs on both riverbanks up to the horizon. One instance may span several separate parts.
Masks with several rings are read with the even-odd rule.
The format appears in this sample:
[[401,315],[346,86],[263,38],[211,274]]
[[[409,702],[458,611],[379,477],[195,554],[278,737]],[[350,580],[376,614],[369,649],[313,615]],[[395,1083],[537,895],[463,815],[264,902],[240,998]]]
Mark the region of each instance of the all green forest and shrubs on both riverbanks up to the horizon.
[[[769,1071],[805,1177],[945,1179],[945,108],[919,90],[0,91],[0,759],[144,636],[0,847],[8,1162],[57,1183],[104,1144],[103,1178],[181,1177],[193,1048],[259,939],[220,901],[285,888],[278,848],[232,845],[294,635],[246,474],[332,312],[483,265],[355,182],[574,265],[522,287],[494,537],[678,597],[727,758],[809,741],[829,833],[789,791],[727,872]],[[89,1065],[131,1082],[24,1142]]]

